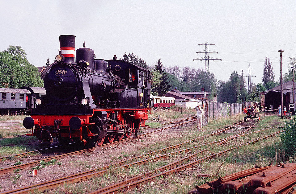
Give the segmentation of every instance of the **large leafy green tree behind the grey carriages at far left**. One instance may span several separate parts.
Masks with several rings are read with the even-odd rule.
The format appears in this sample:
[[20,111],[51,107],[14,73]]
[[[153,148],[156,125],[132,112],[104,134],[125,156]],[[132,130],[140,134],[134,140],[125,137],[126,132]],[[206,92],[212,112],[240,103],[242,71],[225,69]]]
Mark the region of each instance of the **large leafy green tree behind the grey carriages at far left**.
[[0,53],[0,85],[2,87],[43,86],[38,68],[29,63],[22,47],[10,46]]

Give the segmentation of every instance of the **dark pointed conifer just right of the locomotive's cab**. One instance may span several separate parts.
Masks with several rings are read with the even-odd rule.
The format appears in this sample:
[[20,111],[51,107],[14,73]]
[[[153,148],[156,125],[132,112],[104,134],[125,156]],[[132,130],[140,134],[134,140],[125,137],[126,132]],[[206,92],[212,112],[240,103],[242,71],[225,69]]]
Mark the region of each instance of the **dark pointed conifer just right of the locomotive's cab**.
[[159,96],[164,96],[167,93],[167,90],[171,87],[170,82],[167,80],[168,76],[165,70],[163,69],[163,64],[159,59],[157,64],[155,64],[155,71],[159,72],[160,75],[160,84],[158,87],[154,87],[152,90],[154,93],[157,93]]

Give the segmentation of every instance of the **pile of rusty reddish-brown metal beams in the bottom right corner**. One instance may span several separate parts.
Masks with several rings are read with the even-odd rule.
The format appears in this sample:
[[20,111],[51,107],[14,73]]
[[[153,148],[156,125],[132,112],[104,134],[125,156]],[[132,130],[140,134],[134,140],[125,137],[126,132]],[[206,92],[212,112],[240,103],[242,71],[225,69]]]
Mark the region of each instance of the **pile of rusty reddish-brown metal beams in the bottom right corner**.
[[296,163],[257,167],[220,177],[201,186],[198,193],[289,193],[296,183]]

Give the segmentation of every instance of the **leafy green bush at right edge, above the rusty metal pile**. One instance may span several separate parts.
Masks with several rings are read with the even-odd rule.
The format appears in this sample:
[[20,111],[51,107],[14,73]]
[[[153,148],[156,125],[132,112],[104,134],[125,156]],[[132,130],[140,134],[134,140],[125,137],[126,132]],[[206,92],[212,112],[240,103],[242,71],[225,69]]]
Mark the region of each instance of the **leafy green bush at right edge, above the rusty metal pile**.
[[282,145],[286,154],[295,155],[296,150],[296,118],[285,121],[284,131],[280,134]]

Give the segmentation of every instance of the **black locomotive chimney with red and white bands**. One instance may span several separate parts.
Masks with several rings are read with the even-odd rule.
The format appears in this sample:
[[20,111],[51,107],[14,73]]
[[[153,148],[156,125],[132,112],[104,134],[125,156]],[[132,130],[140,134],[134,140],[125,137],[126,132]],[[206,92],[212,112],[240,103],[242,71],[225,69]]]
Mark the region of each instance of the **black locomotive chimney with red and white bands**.
[[75,36],[74,35],[60,35],[60,50],[65,57],[65,63],[75,63]]

